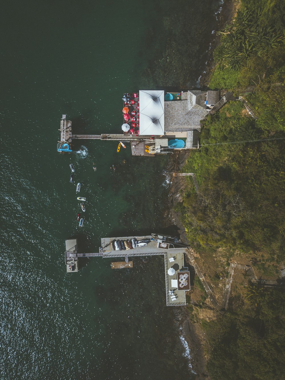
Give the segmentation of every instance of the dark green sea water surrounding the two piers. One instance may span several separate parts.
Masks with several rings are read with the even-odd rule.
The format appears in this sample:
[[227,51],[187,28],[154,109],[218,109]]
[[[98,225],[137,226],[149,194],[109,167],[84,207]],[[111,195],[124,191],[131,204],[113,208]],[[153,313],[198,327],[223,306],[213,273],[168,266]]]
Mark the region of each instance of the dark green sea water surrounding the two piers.
[[[109,259],[82,259],[78,274],[64,264],[70,236],[81,252],[98,252],[102,236],[162,230],[166,157],[131,157],[129,146],[117,154],[111,141],[56,152],[62,114],[74,132],[120,130],[122,95],[145,83],[157,48],[146,35],[149,25],[161,32],[162,9],[149,0],[2,3],[3,379],[193,376],[179,321],[165,306],[162,257],[135,258],[122,271]],[[77,182],[87,198],[80,230]]]

